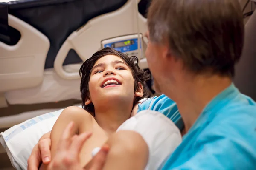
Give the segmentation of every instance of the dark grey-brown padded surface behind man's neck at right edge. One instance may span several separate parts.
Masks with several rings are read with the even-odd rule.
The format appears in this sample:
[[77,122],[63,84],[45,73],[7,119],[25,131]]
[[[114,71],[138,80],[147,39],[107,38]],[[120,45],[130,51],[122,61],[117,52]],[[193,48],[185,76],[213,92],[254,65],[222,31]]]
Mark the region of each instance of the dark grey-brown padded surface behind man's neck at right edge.
[[244,48],[236,65],[234,83],[241,93],[256,101],[256,12],[245,25]]

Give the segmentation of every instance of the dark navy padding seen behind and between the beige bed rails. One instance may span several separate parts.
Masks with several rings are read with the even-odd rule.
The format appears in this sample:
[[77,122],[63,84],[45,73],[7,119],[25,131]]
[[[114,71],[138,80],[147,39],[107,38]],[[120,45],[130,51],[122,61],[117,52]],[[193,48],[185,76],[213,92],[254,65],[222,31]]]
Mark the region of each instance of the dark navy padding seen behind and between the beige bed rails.
[[[67,37],[88,20],[121,8],[128,0],[17,0],[9,3],[9,14],[25,21],[47,36],[50,48],[45,68],[53,68],[55,57]],[[20,34],[9,28],[11,40]],[[13,37],[14,36],[14,37]],[[1,40],[1,39],[0,39]],[[82,62],[76,51],[70,50],[63,65]]]

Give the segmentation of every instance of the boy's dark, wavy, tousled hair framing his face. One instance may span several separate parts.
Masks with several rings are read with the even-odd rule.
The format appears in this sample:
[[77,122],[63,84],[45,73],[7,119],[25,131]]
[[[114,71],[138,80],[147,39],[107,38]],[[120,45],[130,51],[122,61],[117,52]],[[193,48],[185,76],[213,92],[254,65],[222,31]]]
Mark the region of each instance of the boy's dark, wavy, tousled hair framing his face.
[[120,57],[131,69],[131,73],[134,78],[134,93],[138,88],[138,82],[140,82],[143,85],[143,89],[144,89],[143,97],[136,97],[134,100],[134,104],[136,104],[140,99],[143,99],[144,97],[148,97],[149,95],[147,88],[145,88],[145,81],[150,79],[150,74],[140,69],[140,67],[138,66],[138,58],[135,56],[128,57],[126,54],[116,51],[113,48],[108,48],[108,47],[103,48],[102,50],[94,53],[92,57],[87,59],[79,70],[79,74],[81,77],[80,91],[81,91],[81,98],[82,98],[82,107],[86,111],[90,112],[91,114],[94,114],[93,103],[90,103],[89,105],[85,105],[86,100],[89,98],[90,74],[91,74],[93,65],[96,63],[96,61],[106,55],[115,55],[117,57]]

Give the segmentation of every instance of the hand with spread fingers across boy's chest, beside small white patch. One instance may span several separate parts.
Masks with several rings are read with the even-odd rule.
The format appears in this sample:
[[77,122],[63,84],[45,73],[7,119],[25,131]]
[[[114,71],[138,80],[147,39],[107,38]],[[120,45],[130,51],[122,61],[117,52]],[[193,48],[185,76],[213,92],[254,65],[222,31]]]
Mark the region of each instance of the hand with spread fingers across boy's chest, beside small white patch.
[[48,170],[101,170],[104,166],[109,147],[104,145],[93,158],[90,166],[83,168],[80,164],[79,153],[84,142],[90,138],[92,133],[71,136],[73,127],[74,123],[70,122],[64,130],[56,150],[56,155],[50,162]]

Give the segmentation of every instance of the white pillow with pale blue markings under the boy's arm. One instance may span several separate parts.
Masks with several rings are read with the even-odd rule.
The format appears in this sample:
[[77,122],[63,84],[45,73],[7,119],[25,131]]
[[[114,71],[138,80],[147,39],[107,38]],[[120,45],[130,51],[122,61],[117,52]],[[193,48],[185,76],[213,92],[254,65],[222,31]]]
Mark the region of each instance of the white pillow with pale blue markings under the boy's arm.
[[0,142],[15,169],[27,169],[27,160],[33,147],[38,143],[41,136],[52,130],[63,110],[36,116],[0,134]]

